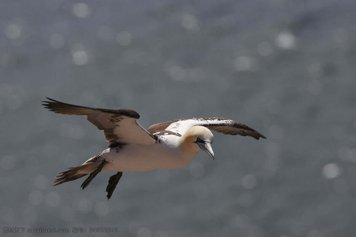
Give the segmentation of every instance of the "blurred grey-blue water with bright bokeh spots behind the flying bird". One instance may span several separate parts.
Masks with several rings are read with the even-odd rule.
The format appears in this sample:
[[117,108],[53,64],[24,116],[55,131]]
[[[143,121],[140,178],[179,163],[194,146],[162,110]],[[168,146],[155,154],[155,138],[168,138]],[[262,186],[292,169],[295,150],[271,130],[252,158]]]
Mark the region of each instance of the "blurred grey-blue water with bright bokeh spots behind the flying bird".
[[[356,236],[355,11],[349,0],[1,1],[1,228]],[[84,191],[83,179],[51,187],[107,142],[85,117],[44,109],[46,96],[130,108],[145,128],[230,118],[267,139],[214,132],[215,161],[199,152],[186,168],[124,173],[106,201],[112,172]]]

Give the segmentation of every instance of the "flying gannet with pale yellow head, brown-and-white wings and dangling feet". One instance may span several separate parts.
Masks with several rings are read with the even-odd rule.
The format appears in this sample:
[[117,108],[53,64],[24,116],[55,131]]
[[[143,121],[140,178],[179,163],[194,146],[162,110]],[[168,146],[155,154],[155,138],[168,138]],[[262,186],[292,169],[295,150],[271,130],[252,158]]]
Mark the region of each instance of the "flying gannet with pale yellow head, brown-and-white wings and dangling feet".
[[110,177],[106,187],[108,200],[122,172],[184,167],[200,150],[215,159],[211,148],[214,136],[209,129],[223,134],[251,136],[257,140],[265,138],[244,124],[224,118],[176,119],[153,124],[146,130],[136,122],[140,115],[131,109],[89,108],[47,99],[50,101],[42,101],[45,103],[42,105],[54,113],[87,116],[90,123],[104,130],[105,140],[109,142],[108,149],[83,165],[59,173],[53,186],[89,174],[80,186],[83,190],[98,173],[115,171],[117,173]]

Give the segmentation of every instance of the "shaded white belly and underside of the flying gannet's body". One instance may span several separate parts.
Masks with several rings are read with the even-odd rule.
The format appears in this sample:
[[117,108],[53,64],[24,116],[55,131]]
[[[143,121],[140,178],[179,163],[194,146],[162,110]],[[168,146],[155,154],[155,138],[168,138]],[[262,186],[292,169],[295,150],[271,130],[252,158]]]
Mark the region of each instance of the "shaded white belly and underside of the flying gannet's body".
[[116,148],[105,150],[102,157],[108,161],[103,171],[148,171],[152,169],[172,169],[187,166],[197,153],[184,153],[178,148],[161,144],[127,144],[116,152]]

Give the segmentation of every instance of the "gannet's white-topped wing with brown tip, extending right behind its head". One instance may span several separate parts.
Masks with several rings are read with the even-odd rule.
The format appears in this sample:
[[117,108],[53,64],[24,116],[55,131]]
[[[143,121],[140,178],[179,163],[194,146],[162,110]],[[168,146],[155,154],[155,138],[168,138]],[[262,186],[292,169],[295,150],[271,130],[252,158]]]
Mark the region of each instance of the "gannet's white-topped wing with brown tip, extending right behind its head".
[[205,126],[211,130],[223,134],[251,136],[255,139],[266,138],[256,130],[242,123],[237,123],[231,119],[224,118],[190,118],[176,119],[169,122],[151,125],[147,131],[156,136],[177,135],[182,136],[192,126]]

